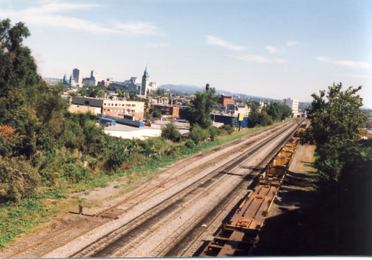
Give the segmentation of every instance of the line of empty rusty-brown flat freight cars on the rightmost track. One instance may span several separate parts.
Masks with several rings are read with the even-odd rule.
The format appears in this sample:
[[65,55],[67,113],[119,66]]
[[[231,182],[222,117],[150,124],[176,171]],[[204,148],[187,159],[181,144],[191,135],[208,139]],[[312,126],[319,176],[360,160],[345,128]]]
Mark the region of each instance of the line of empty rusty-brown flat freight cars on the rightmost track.
[[260,174],[258,185],[248,190],[234,215],[221,226],[200,257],[247,256],[258,242],[258,233],[299,143],[300,132],[306,124],[297,129],[288,143],[271,160],[264,173]]

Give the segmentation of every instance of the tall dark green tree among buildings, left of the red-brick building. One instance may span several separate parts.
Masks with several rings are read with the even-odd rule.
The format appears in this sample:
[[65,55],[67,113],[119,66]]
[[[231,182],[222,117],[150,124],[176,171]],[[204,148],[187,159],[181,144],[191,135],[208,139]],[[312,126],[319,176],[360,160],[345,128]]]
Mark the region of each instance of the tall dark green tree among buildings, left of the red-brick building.
[[212,124],[210,118],[211,111],[216,105],[218,96],[214,87],[208,89],[208,92],[196,92],[191,99],[191,106],[188,107],[188,122],[191,127],[198,124],[202,129],[209,129]]

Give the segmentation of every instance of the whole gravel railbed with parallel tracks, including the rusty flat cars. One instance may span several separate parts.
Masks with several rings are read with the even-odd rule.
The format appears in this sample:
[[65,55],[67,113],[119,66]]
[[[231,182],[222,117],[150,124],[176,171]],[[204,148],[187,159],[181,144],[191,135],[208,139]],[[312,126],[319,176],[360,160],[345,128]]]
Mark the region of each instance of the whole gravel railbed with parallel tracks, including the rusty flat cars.
[[302,128],[290,120],[181,160],[102,212],[2,257],[248,255]]

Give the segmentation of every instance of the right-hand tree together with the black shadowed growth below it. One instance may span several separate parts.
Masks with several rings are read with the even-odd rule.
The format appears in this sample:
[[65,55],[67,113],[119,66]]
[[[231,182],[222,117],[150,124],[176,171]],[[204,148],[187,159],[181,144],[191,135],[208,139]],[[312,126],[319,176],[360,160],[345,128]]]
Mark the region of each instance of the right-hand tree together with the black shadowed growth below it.
[[327,92],[312,94],[307,111],[311,125],[304,137],[316,145],[318,192],[326,209],[322,217],[336,228],[336,246],[329,254],[372,254],[372,140],[360,134],[367,120],[360,109],[360,89],[343,91],[341,83],[334,84]]

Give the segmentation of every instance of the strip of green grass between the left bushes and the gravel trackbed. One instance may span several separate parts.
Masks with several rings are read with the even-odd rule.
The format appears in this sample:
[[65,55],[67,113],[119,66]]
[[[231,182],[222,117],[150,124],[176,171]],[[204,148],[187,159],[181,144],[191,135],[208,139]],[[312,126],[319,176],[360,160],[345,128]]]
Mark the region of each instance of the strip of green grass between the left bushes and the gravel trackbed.
[[[82,203],[84,199],[80,199],[77,196],[75,200],[67,200],[66,198],[72,192],[89,194],[89,189],[107,187],[107,183],[110,181],[121,178],[128,180],[122,193],[131,192],[133,189],[155,178],[156,175],[163,171],[161,168],[169,166],[179,159],[185,159],[198,152],[211,150],[218,145],[223,145],[265,128],[267,127],[236,130],[230,135],[218,136],[213,142],[202,143],[202,145],[195,147],[193,150],[188,150],[184,154],[165,157],[160,161],[118,170],[110,173],[110,175],[104,172],[95,173],[94,178],[87,180],[87,182],[68,184],[68,189],[45,190],[32,198],[24,199],[17,205],[9,202],[0,203],[0,247],[5,247],[7,243],[15,240],[15,237],[33,231],[40,223],[49,222],[49,217],[56,217],[61,212],[76,209],[76,204]],[[115,188],[119,188],[119,186],[116,185]],[[92,205],[86,206],[88,208],[92,207]]]

